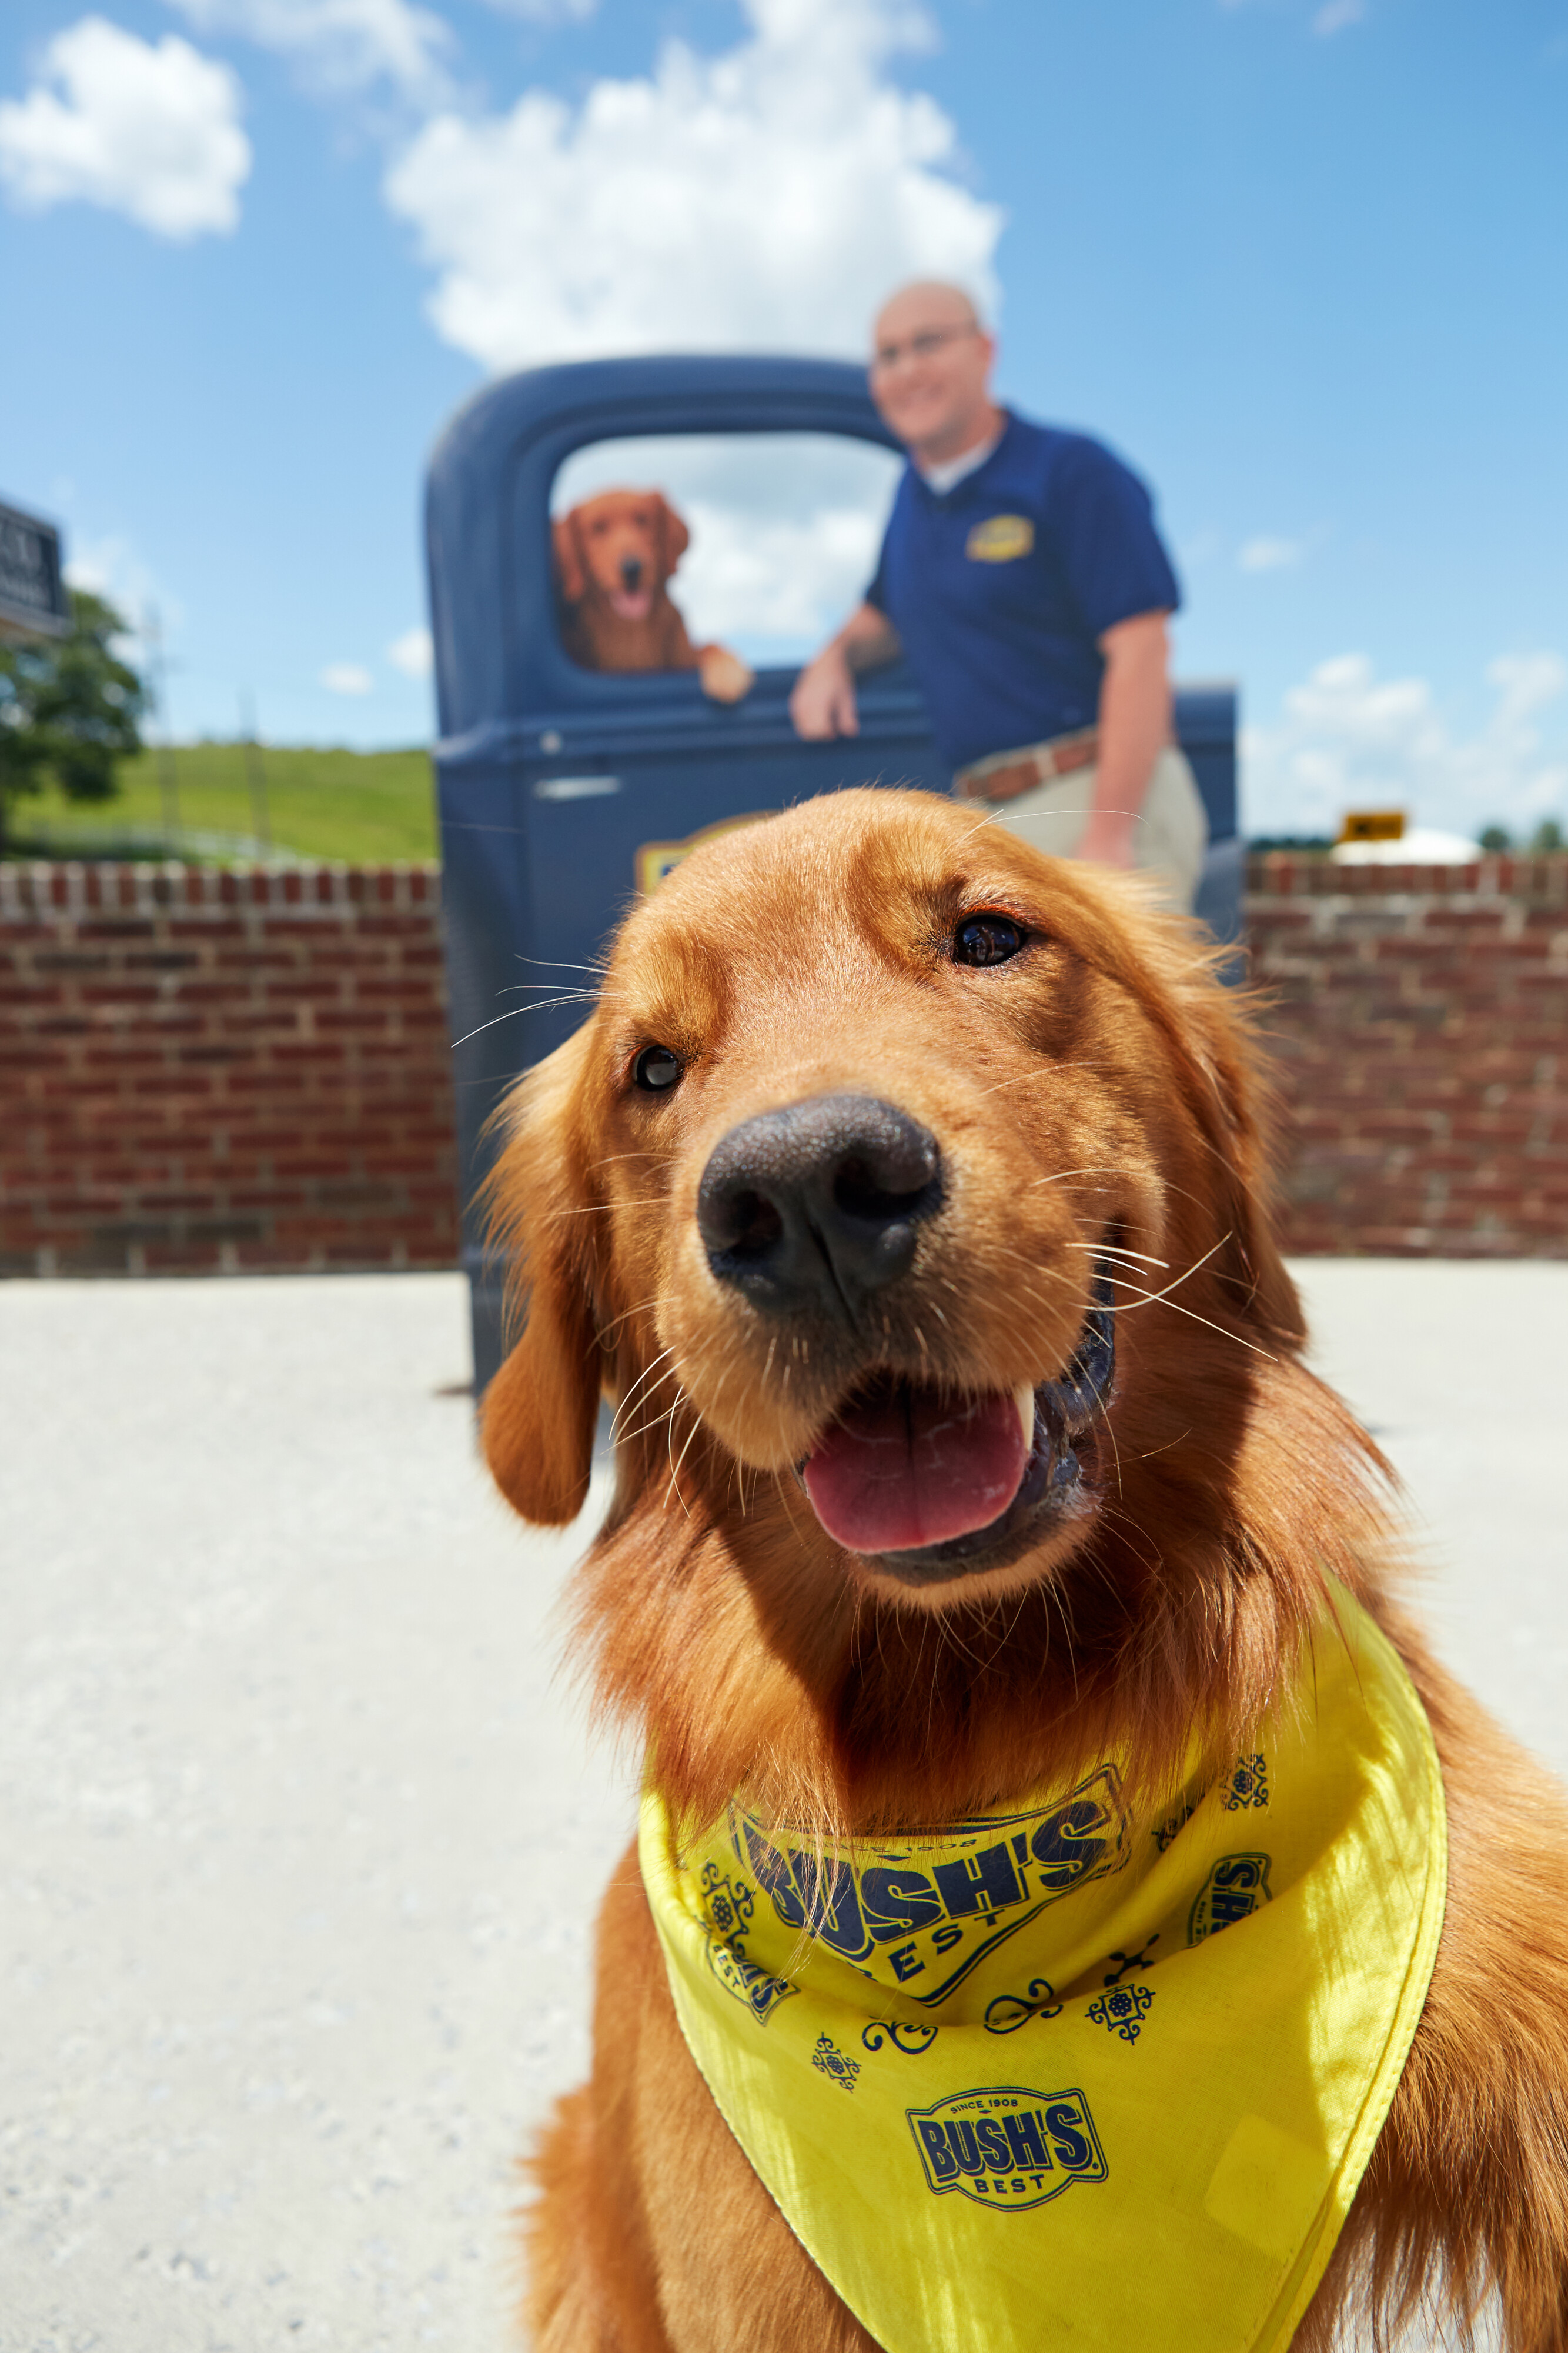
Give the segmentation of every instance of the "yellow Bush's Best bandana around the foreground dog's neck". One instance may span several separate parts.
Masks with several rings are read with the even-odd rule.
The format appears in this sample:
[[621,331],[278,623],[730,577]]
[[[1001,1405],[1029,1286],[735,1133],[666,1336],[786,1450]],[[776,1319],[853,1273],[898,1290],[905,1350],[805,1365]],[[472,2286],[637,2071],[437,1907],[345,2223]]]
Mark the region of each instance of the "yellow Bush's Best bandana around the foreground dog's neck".
[[1284,2346],[1387,2115],[1443,1922],[1406,1671],[1345,1595],[1255,1755],[1164,1819],[1114,1762],[827,1849],[741,1805],[642,1875],[691,2054],[889,2353]]

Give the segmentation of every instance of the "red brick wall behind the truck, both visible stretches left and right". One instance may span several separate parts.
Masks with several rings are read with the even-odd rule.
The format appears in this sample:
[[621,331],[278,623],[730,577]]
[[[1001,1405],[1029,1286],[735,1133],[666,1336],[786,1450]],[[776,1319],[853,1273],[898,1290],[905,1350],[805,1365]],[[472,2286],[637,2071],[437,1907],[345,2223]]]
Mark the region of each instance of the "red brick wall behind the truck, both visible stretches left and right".
[[[1253,859],[1302,1252],[1568,1257],[1568,856]],[[449,1266],[433,868],[0,866],[0,1271]]]

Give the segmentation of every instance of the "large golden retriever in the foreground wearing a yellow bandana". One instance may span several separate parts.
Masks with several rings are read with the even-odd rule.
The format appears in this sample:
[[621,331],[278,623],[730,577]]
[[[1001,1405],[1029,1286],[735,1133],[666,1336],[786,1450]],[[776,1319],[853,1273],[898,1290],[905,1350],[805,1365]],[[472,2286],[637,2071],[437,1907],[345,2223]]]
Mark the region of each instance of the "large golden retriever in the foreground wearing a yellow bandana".
[[[1020,1967],[983,2021],[954,2031],[999,2057],[978,2089],[959,2080],[969,2097],[947,2099],[947,2122],[922,2089],[952,2047],[945,2012],[936,2031],[919,1979],[903,1988],[924,1967],[919,1911],[886,1859],[914,1854],[931,1826],[1023,1821],[1032,1793],[1056,1788],[1079,1798],[1034,1835],[1046,1880],[1072,1882],[1095,1854],[1100,1871],[1126,1864],[1074,1892],[1081,1906],[1138,1875],[1154,1887],[1199,1835],[1272,1845],[1269,1814],[1229,1809],[1265,1805],[1265,1753],[1309,1739],[1314,1694],[1335,1675],[1356,1685],[1373,1654],[1434,1758],[1446,1906],[1427,1878],[1403,2040],[1387,2045],[1392,2071],[1361,2111],[1312,2261],[1284,2226],[1269,2242],[1269,2200],[1298,2158],[1316,2162],[1300,2134],[1253,2120],[1229,2155],[1201,2153],[1213,2181],[1182,2238],[1220,2271],[1206,2332],[1182,2341],[1324,2348],[1368,2315],[1465,2337],[1490,2297],[1512,2353],[1568,2344],[1568,1814],[1399,1598],[1389,1471],[1302,1362],[1269,1228],[1262,1052],[1213,965],[1192,925],[1117,875],[1048,861],[933,795],[846,791],[686,859],[623,922],[583,1028],[510,1101],[494,1209],[527,1327],[484,1400],[484,1449],[524,1520],[569,1522],[599,1400],[616,1402],[614,1504],[576,1572],[576,1659],[602,1720],[646,1753],[644,1824],[654,1805],[672,1826],[668,1849],[644,1828],[642,1868],[632,1849],[611,1880],[592,2078],[531,2165],[527,2325],[541,2353],[886,2344],[898,2332],[863,2318],[882,2308],[884,2247],[910,2297],[957,2315],[952,2334],[926,2327],[933,2348],[1175,2344],[1161,2299],[1180,2287],[1182,2242],[1168,2264],[1147,2257],[1143,2224],[1161,2214],[1135,2205],[1138,2141],[1175,2167],[1199,2148],[1208,2101],[1229,2099],[1248,2002],[1222,2019],[1182,2104],[1157,2099],[1147,2071],[1164,2064],[1157,2028],[1178,1988],[1262,1953],[1288,1918],[1269,1854],[1225,1857],[1229,1880],[1211,1871],[1164,1944],[1145,1929],[1138,1951],[1086,1944],[1027,1988]],[[1467,1377],[1455,1367],[1455,1402]],[[1098,1758],[1119,1760],[1098,1767],[1114,1805],[1081,1800]],[[1408,1795],[1399,1774],[1382,1786],[1389,1805]],[[724,1944],[729,1894],[710,1908],[708,1958],[712,2007],[748,2066],[778,2066],[809,2007],[804,1977],[844,1925],[832,1889],[858,1885],[870,1920],[879,1887],[891,1922],[870,1920],[856,1967],[820,1962],[839,1991],[863,1988],[865,2031],[849,1998],[823,2005],[849,2024],[799,2042],[811,2066],[783,2108],[769,2113],[766,2094],[741,2118],[745,2146],[729,2042],[696,2035],[696,1977],[679,1979],[677,2012],[649,1880],[649,1854],[717,1854],[703,1840],[731,1831],[712,1887],[729,1875],[741,1913],[755,1901],[757,1958]],[[1333,1864],[1345,1833],[1324,1835]],[[882,1857],[882,1875],[835,1880],[823,1859],[846,1845]],[[969,1887],[950,1911],[969,1906],[987,1937],[1006,1918],[983,1908],[976,1871],[990,1901],[1011,1901],[997,1887],[1013,1849],[1032,1871],[1023,1833],[938,1868]],[[1387,1857],[1363,1861],[1375,1875]],[[1067,1901],[1044,1918],[1067,1920]],[[1380,1929],[1359,1899],[1314,1920],[1298,1944],[1321,2089],[1340,2061],[1321,2021]],[[943,1922],[919,1953],[966,1932]],[[891,1977],[882,1934],[910,1939]],[[1072,2035],[1100,2078],[1058,2064]],[[1279,2068],[1302,2064],[1281,2038]],[[1098,2085],[1114,2068],[1114,2097],[1145,2106],[1124,2111],[1112,2146],[1110,2129],[1093,2141],[1086,2108],[1112,2097]],[[818,2198],[802,2235],[790,2179],[811,2200],[835,2134],[865,2129],[884,2080],[912,2087],[889,2094],[907,2106],[886,2158],[844,2177],[844,2219],[837,2191]],[[1048,2106],[1025,2113],[1030,2099]],[[799,2162],[788,2132],[776,2139],[785,2108],[820,2111]],[[1072,2177],[1060,2200],[1046,2129]],[[769,2134],[783,2158],[764,2184],[748,2148]],[[1034,2186],[983,2172],[1025,2160]],[[936,2233],[924,2268],[856,2221],[882,2174],[889,2198],[924,2200],[910,2205],[912,2228]],[[1098,2228],[1112,2191],[1133,2205],[1084,2294],[1107,2311],[1143,2294],[1152,2325],[1067,2334],[1051,2315],[1079,2287],[1053,2249]],[[1006,2195],[1030,2212],[985,2209]],[[1037,2329],[992,2325],[987,2282],[943,2275],[959,2228],[1044,2266]],[[997,2280],[1027,2315],[1034,2289]],[[919,2341],[905,2329],[898,2353]]]

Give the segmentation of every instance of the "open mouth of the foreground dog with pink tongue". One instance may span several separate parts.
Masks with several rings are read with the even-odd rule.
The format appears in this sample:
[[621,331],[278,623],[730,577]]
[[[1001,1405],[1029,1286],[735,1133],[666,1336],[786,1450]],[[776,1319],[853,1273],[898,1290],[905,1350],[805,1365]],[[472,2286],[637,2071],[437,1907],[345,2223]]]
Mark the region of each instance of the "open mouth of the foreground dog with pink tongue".
[[875,1374],[802,1464],[811,1508],[849,1553],[907,1584],[1004,1567],[1044,1515],[1072,1515],[1074,1440],[1110,1393],[1117,1362],[1110,1275],[1072,1362],[1039,1388],[964,1398]]

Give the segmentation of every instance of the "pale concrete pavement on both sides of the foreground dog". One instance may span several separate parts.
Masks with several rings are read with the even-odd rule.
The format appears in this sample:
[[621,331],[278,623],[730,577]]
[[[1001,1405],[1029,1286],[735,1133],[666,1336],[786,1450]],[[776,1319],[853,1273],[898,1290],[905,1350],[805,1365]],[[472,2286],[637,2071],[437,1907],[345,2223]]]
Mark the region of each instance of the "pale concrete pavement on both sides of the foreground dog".
[[[1568,1772],[1568,1266],[1298,1273]],[[0,2353],[508,2344],[635,1774],[465,1369],[451,1275],[0,1287]]]

